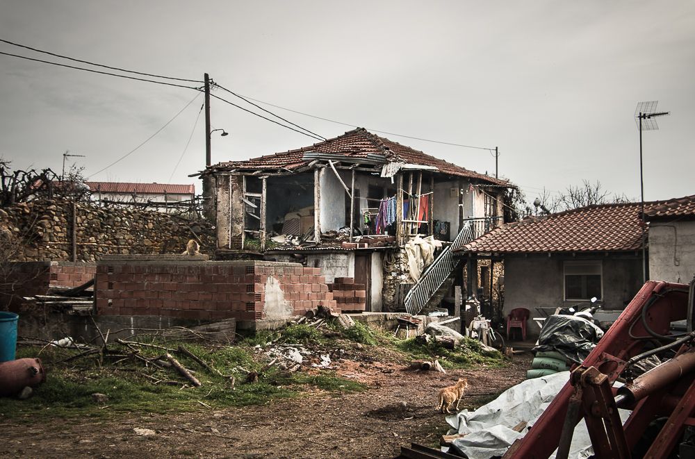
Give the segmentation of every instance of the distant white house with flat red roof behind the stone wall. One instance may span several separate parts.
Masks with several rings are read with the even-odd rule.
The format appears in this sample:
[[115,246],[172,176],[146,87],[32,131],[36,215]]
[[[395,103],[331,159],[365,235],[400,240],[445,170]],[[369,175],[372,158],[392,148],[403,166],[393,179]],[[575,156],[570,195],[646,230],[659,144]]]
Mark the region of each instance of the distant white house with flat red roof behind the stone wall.
[[87,182],[92,197],[117,203],[179,203],[193,201],[195,185],[176,183]]

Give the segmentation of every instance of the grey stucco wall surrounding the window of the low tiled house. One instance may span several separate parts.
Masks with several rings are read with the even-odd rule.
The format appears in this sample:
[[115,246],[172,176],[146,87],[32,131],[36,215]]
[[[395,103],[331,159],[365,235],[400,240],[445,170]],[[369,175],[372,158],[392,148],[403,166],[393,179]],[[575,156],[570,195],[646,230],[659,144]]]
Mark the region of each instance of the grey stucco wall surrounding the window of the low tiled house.
[[[590,260],[591,258],[587,258]],[[605,309],[623,309],[641,287],[641,262],[637,256],[594,258],[603,266],[603,305]],[[505,258],[505,307],[503,314],[514,308],[527,308],[531,317],[543,317],[535,308],[571,306],[564,302],[564,260],[572,257],[529,256]],[[584,258],[582,258],[584,260]],[[528,333],[538,335],[539,328],[528,322]]]

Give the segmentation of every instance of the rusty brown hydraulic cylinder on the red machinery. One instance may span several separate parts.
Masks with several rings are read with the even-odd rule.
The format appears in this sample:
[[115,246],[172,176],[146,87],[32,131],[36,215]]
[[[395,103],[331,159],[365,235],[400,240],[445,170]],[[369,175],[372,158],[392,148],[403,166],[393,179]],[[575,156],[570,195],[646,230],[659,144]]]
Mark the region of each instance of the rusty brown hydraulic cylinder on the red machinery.
[[[624,396],[620,399],[620,408],[644,399],[649,394],[692,372],[693,369],[695,369],[695,349],[689,349],[639,376],[632,384],[619,387],[618,395]],[[616,404],[618,402],[619,400],[616,399]]]

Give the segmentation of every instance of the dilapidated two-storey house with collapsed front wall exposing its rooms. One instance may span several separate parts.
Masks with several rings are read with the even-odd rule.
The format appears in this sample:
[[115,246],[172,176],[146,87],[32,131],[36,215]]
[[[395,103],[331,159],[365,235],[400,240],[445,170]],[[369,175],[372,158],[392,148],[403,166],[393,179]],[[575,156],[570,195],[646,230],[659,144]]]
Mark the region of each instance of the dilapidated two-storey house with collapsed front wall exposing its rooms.
[[300,261],[327,283],[354,278],[366,298],[343,310],[367,311],[423,308],[455,271],[452,244],[502,224],[512,187],[363,128],[202,176],[216,190],[216,258]]

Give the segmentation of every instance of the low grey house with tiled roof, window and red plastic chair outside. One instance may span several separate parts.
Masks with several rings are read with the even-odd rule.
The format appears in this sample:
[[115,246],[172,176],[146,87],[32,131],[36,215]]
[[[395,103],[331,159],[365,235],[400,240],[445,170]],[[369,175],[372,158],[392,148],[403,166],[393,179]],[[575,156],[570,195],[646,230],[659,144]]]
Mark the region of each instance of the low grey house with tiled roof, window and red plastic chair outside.
[[504,262],[503,317],[514,308],[545,317],[591,297],[621,310],[642,285],[640,212],[639,203],[621,203],[530,217],[493,229],[457,255]]

